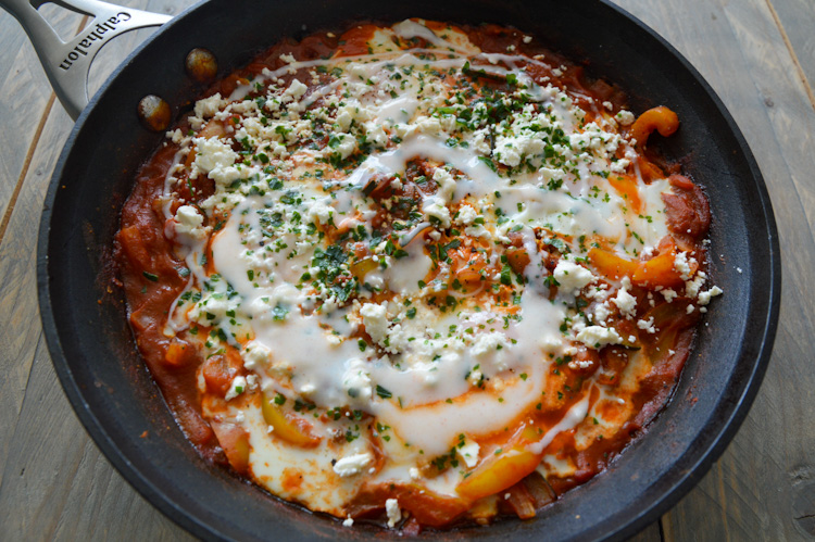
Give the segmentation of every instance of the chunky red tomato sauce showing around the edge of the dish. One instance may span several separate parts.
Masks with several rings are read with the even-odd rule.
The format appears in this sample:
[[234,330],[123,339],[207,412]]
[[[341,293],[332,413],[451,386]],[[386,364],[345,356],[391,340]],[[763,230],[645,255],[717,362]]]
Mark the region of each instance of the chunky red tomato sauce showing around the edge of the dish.
[[[466,28],[466,31],[471,41],[484,51],[504,52],[507,47],[513,46],[517,51],[528,55],[542,54],[552,65],[566,66],[561,75],[555,75],[537,64],[529,64],[528,73],[536,79],[548,77],[553,83],[577,93],[578,97],[585,96],[586,99],[582,100],[582,103],[578,98],[578,104],[586,108],[587,111],[591,111],[589,106],[590,98],[611,101],[615,109],[625,104],[625,94],[617,87],[606,81],[589,79],[582,67],[572,64],[551,51],[524,43],[522,35],[517,31],[497,25]],[[215,92],[228,96],[240,81],[260,74],[263,68],[275,70],[280,67],[283,61],[279,56],[284,52],[292,53],[299,60],[326,58],[338,48],[347,55],[364,54],[366,52],[364,39],[368,35],[369,28],[362,26],[349,30],[342,36],[342,40],[329,38],[325,34],[308,37],[300,42],[285,40],[259,55],[248,66],[212,85],[204,92],[204,96],[211,96]],[[421,40],[418,41],[421,45]],[[298,75],[301,74],[289,74],[283,78],[288,83]],[[306,77],[304,80],[310,80],[310,78]],[[487,81],[485,84],[494,83]],[[186,119],[181,119],[178,126],[184,131],[188,129]],[[197,370],[204,361],[193,343],[185,340],[185,333],[174,338],[167,338],[164,335],[167,314],[173,302],[184,291],[187,283],[186,276],[189,274],[184,262],[176,256],[172,240],[165,236],[161,201],[164,179],[177,150],[178,148],[175,144],[166,144],[160,148],[147,161],[136,178],[133,193],[122,211],[121,229],[116,236],[120,275],[128,300],[130,325],[137,345],[179,426],[205,458],[227,464],[228,458],[218,443],[215,432],[201,416]],[[640,163],[643,176],[647,179],[663,177],[663,171],[666,168],[668,171],[677,169],[676,166],[664,163],[653,150],[649,150],[648,155],[653,160],[643,157]],[[422,174],[424,166],[423,161],[409,164],[408,178]],[[435,186],[430,185],[432,184],[417,187],[408,182],[405,188],[402,189],[404,193],[401,196],[417,198],[422,190],[434,191]],[[670,185],[674,193],[662,197],[666,205],[669,230],[677,245],[684,250],[692,251],[699,262],[704,262],[705,251],[701,241],[707,232],[711,220],[707,200],[702,190],[687,177],[672,175]],[[389,190],[388,187],[389,182],[383,182],[381,187],[375,188],[375,193],[372,197],[376,199],[379,196],[378,191],[383,191],[383,197],[392,196],[391,193],[385,193]],[[212,190],[212,181],[199,177],[198,180],[190,181],[187,190],[181,190],[178,201],[173,204],[178,206],[186,202],[200,202],[210,196]],[[525,265],[512,260],[512,255],[511,261],[514,265],[521,265],[521,268]],[[553,268],[556,265],[556,260],[549,262],[549,264]],[[641,307],[647,306],[648,291],[637,286],[632,287],[631,294],[637,298]],[[573,457],[578,466],[577,471],[574,476],[567,478],[550,477],[548,487],[539,480],[514,486],[511,490],[513,495],[511,502],[501,504],[504,512],[524,517],[524,502],[544,504],[555,499],[554,495],[560,495],[575,486],[584,483],[605,469],[607,464],[632,439],[639,438],[647,431],[648,424],[669,399],[682,366],[690,354],[699,313],[694,311],[687,314],[685,311],[687,303],[682,300],[675,300],[670,304],[661,303],[647,314],[647,316],[654,317],[655,325],[661,331],[655,336],[647,335],[645,337],[645,348],[649,349],[649,353],[654,360],[654,367],[651,374],[645,377],[642,388],[635,396],[638,414],[625,424],[622,431],[595,443],[588,450],[577,451],[574,434],[562,433],[557,439],[557,445],[562,450],[561,456]],[[631,324],[627,323],[626,325]],[[613,345],[605,346],[599,353],[593,351],[581,352],[578,356],[582,356],[581,360],[590,362],[588,367],[572,369],[564,366],[561,368],[562,378],[568,382],[572,389],[580,389],[584,379],[600,367],[612,375],[605,383],[614,385],[614,375],[622,374],[628,363],[628,354],[625,349]],[[237,371],[241,370],[239,362],[230,362],[229,355],[225,354],[214,356],[205,363],[203,375],[208,388],[213,392],[226,393],[224,387],[228,387],[230,379]],[[569,399],[566,398],[567,404]],[[237,439],[241,438],[238,433],[230,434],[234,434]],[[233,466],[235,466],[234,462]],[[300,475],[290,472],[286,483],[297,487],[301,481],[298,476]],[[538,476],[538,478],[540,477]],[[547,489],[550,487],[554,495]],[[415,492],[408,491],[406,488],[394,489],[375,486],[360,494],[354,504],[355,515],[379,514],[384,491],[389,496],[397,494],[402,506],[413,513],[413,519],[405,532],[418,532],[422,526],[447,526],[466,509],[466,506],[462,507],[460,501],[439,500],[432,495],[421,496]]]

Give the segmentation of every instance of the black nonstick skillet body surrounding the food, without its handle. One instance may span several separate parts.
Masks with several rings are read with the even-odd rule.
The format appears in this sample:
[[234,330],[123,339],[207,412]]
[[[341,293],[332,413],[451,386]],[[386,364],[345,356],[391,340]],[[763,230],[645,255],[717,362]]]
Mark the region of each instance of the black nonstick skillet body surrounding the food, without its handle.
[[151,503],[199,537],[387,537],[285,504],[198,456],[136,353],[121,292],[108,292],[109,254],[133,176],[162,140],[139,124],[136,104],[152,93],[174,114],[189,105],[200,87],[185,73],[188,51],[213,51],[224,75],[281,36],[410,16],[516,26],[627,89],[634,111],[665,104],[681,119],[664,150],[707,191],[714,216],[710,273],[725,294],[711,305],[673,401],[606,472],[536,519],[419,538],[629,537],[704,475],[744,418],[776,331],[780,259],[761,173],[720,100],[662,38],[600,0],[215,0],[166,24],[83,111],[46,198],[38,285],[57,373],[108,458]]

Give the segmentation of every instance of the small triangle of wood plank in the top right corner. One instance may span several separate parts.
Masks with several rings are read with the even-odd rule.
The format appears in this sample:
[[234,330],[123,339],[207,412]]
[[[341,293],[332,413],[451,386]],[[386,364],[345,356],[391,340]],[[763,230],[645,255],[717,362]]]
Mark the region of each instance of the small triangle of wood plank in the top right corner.
[[768,3],[787,35],[815,108],[815,5],[810,0],[772,0]]

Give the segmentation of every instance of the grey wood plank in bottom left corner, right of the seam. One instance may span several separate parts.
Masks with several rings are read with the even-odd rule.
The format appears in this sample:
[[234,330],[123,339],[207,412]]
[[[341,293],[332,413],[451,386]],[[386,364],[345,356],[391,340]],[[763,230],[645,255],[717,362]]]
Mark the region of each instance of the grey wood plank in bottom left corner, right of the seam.
[[0,492],[0,539],[191,540],[145,502],[90,441],[57,381],[41,336],[34,357]]

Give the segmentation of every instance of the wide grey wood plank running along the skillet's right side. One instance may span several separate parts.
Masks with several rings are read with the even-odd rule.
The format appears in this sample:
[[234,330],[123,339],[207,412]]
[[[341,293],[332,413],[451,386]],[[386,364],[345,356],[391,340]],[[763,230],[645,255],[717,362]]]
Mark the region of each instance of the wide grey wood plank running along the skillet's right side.
[[[666,540],[795,540],[811,490],[815,377],[812,135],[815,115],[763,1],[622,1],[677,46],[736,117],[767,181],[780,230],[785,291],[773,362],[730,448],[663,518]],[[681,24],[676,24],[681,22]],[[810,531],[812,532],[812,531]]]

